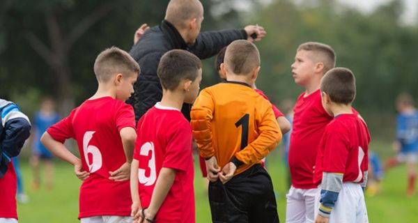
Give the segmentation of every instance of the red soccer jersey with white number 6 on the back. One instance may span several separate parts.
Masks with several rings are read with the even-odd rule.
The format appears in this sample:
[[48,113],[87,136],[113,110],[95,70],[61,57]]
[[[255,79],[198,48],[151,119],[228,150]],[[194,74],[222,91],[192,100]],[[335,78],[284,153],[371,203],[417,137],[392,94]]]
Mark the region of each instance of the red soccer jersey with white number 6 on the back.
[[86,100],[70,116],[47,132],[56,141],[77,141],[83,169],[90,176],[83,181],[79,196],[79,218],[100,215],[130,216],[130,182],[109,180],[126,162],[119,132],[135,128],[132,106],[111,97]]

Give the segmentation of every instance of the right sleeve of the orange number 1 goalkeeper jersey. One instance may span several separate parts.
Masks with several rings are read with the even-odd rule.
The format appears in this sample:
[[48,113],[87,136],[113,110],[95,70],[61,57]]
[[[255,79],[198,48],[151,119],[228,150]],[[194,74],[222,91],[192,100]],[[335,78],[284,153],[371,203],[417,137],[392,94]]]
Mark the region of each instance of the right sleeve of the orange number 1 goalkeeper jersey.
[[261,114],[255,114],[260,117],[259,120],[256,120],[258,137],[242,151],[235,153],[235,158],[244,164],[253,164],[262,160],[279,144],[282,137],[270,102],[263,99],[260,107]]

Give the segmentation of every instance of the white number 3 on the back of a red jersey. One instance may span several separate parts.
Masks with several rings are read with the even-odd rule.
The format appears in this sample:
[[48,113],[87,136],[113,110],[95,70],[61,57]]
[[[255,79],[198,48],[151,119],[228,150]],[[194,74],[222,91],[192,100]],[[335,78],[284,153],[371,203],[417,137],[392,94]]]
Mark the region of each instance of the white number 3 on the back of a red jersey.
[[[148,160],[148,168],[147,169],[138,169],[138,178],[139,183],[144,184],[146,186],[153,185],[155,183],[155,180],[157,180],[157,171],[155,171],[155,154],[154,154],[154,144],[152,142],[146,142],[144,145],[141,146],[141,151],[139,152],[139,155],[144,155],[146,157],[149,157],[148,153],[151,152],[150,160]],[[147,172],[149,176],[145,176],[145,173]]]

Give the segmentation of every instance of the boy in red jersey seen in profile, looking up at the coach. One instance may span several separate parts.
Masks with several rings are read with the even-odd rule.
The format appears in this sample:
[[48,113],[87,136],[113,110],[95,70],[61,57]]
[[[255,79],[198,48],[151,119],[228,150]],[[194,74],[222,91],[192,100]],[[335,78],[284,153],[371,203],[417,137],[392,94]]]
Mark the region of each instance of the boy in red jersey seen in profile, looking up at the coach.
[[325,126],[332,116],[325,112],[320,99],[320,79],[334,68],[334,50],[322,43],[303,43],[297,48],[292,73],[295,83],[305,91],[297,98],[288,152],[292,186],[286,195],[286,222],[314,222],[314,185],[316,153]]

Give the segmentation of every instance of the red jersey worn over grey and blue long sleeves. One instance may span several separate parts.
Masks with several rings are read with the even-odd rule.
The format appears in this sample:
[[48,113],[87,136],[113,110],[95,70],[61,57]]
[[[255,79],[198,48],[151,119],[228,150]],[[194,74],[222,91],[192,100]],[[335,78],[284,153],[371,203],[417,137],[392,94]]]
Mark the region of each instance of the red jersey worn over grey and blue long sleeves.
[[369,169],[367,153],[370,142],[366,123],[357,114],[336,116],[325,128],[316,157],[316,185],[323,172],[343,174],[343,182],[363,182],[363,173]]

